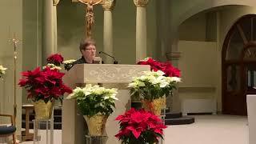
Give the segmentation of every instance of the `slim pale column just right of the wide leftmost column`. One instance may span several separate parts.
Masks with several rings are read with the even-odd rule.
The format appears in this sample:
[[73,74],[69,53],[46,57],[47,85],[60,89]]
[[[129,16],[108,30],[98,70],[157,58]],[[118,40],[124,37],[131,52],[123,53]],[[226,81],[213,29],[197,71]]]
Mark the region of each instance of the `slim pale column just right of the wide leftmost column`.
[[57,5],[59,0],[54,0],[53,18],[54,18],[54,53],[58,51],[58,31],[57,31]]

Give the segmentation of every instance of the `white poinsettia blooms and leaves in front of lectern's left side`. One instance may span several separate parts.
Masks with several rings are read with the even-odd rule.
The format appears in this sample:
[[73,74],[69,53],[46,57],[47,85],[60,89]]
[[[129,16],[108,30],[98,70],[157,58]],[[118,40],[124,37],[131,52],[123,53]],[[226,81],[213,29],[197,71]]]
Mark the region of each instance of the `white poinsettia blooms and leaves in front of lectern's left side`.
[[110,115],[114,112],[114,102],[118,100],[117,89],[106,89],[104,87],[87,84],[85,87],[77,87],[66,99],[77,99],[78,108],[83,115],[89,117],[95,114]]

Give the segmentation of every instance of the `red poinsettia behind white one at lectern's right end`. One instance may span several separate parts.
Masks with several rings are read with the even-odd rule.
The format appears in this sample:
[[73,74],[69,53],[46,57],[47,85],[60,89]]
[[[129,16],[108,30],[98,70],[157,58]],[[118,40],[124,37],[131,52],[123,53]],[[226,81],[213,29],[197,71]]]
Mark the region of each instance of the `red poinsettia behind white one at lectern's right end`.
[[180,77],[180,70],[172,66],[170,62],[158,62],[153,58],[146,58],[138,62],[139,65],[150,65],[150,70],[162,70],[167,77]]

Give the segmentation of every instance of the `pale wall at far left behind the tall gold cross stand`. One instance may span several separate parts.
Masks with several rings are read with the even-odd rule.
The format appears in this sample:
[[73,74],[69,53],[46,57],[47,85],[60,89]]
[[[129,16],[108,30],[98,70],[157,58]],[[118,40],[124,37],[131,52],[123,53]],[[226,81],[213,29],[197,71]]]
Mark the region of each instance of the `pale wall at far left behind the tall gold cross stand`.
[[[8,68],[6,76],[0,80],[0,113],[14,114],[14,46],[8,42],[10,26],[10,34],[17,34],[19,39],[22,39],[22,1],[16,0],[1,0],[0,1],[0,65]],[[18,43],[18,62],[17,62],[17,80],[20,78],[22,71],[22,42]],[[18,81],[17,81],[18,82]],[[22,90],[18,88],[17,104],[18,117],[17,126],[18,134],[21,130],[21,103]],[[3,121],[5,122],[5,121]],[[10,120],[9,120],[10,122]]]

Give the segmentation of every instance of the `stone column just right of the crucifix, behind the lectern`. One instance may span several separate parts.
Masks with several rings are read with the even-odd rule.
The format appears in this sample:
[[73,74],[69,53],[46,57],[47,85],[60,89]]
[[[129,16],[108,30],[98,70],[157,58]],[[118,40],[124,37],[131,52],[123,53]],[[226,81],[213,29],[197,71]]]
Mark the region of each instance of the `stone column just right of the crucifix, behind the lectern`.
[[[114,9],[116,0],[103,0],[102,8],[104,10],[104,27],[103,27],[103,51],[114,56],[113,53],[113,24],[112,10]],[[113,58],[105,56],[105,63],[113,63]]]

